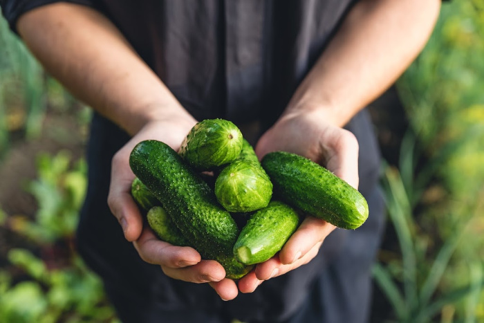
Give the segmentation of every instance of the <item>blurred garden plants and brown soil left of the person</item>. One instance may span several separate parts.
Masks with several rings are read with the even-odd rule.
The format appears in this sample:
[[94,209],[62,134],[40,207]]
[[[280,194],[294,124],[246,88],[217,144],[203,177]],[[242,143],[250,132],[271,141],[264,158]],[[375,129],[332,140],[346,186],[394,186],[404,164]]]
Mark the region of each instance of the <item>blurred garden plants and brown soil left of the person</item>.
[[0,322],[118,322],[75,250],[89,119],[0,19]]

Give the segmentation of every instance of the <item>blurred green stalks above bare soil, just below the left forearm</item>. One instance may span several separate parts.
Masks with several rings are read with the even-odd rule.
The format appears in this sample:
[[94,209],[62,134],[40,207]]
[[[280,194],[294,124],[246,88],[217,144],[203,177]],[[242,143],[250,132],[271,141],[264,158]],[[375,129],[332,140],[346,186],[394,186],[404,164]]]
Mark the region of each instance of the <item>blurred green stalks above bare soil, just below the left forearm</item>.
[[17,138],[21,133],[24,140],[41,136],[47,109],[75,113],[80,124],[87,124],[91,115],[91,109],[41,68],[0,11],[0,158],[10,147],[12,133]]

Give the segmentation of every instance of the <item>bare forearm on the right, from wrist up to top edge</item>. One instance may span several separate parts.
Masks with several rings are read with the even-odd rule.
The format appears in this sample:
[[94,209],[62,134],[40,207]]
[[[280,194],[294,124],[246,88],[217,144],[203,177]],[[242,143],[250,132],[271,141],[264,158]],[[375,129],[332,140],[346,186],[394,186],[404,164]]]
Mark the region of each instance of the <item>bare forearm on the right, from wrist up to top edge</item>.
[[343,126],[378,98],[416,58],[440,0],[362,0],[292,97],[286,115],[307,109]]

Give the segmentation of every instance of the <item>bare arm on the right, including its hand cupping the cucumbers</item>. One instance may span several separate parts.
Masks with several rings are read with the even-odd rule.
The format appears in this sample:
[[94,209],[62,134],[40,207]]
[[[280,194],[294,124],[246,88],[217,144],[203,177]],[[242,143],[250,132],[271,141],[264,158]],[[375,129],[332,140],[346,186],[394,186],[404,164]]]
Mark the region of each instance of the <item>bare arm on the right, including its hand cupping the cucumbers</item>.
[[[286,111],[257,144],[257,154],[285,150],[311,158],[358,186],[358,144],[341,129],[383,93],[420,53],[434,28],[440,0],[362,0],[290,100]],[[241,280],[250,292],[260,280],[313,259],[334,226],[311,216],[278,257]]]

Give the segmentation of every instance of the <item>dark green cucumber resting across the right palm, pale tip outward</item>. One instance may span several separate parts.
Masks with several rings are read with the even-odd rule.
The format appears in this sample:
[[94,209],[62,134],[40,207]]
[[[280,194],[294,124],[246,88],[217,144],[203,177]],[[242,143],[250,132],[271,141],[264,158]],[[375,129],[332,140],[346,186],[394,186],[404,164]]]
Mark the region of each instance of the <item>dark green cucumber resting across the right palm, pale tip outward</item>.
[[308,158],[274,151],[262,158],[274,195],[339,228],[355,229],[368,218],[366,199],[351,185]]

